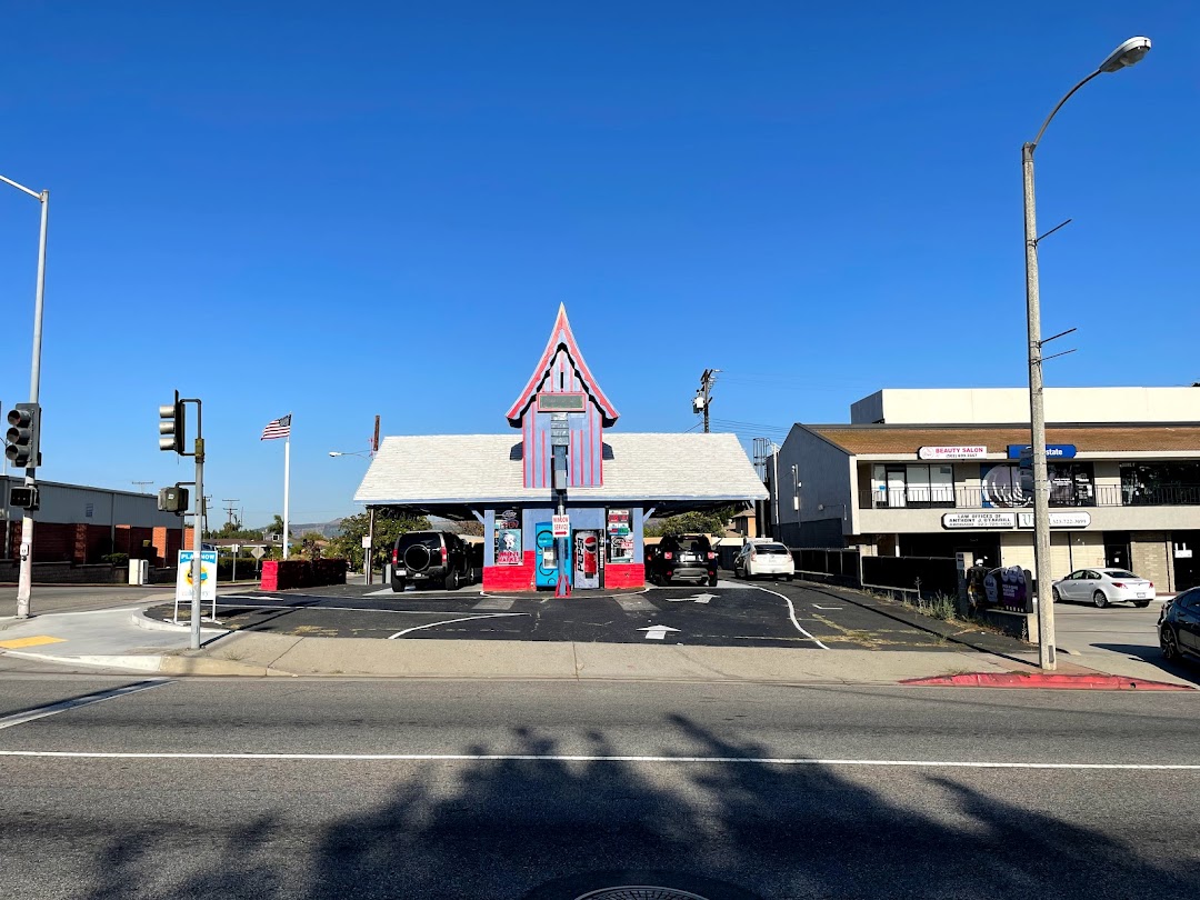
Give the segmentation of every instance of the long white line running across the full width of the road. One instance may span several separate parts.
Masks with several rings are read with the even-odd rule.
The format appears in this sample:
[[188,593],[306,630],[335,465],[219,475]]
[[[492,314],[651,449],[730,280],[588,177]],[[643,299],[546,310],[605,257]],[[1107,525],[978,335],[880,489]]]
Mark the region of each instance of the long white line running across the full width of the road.
[[67,760],[295,760],[314,762],[649,762],[754,766],[859,766],[918,769],[1064,769],[1076,772],[1200,772],[1200,763],[979,762],[974,760],[810,760],[773,756],[593,756],[587,754],[204,754],[0,750],[4,756]]

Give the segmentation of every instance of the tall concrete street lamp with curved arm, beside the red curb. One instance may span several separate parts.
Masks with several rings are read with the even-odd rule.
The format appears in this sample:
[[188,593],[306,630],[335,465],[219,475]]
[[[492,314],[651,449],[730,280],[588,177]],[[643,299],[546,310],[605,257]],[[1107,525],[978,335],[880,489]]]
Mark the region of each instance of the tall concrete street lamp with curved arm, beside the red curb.
[[1038,586],[1038,661],[1044,670],[1055,660],[1054,601],[1050,575],[1050,485],[1046,476],[1046,419],[1042,382],[1042,306],[1038,294],[1038,223],[1033,197],[1033,151],[1046,126],[1063,103],[1096,76],[1133,66],[1150,53],[1148,37],[1130,37],[1109,54],[1099,67],[1072,88],[1042,122],[1038,136],[1021,148],[1025,176],[1025,314],[1030,337],[1030,428],[1033,437],[1033,553]]

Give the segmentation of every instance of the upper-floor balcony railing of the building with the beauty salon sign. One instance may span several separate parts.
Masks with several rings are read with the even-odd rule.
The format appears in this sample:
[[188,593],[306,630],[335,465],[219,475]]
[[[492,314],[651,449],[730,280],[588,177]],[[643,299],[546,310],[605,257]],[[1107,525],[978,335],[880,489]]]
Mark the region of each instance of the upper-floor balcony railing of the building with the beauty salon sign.
[[[859,498],[860,509],[1020,509],[1033,505],[1033,496],[985,497],[982,487],[914,487],[907,491],[872,491]],[[1050,486],[1051,509],[1088,506],[1200,506],[1200,485],[1135,488],[1098,485],[1090,488]]]

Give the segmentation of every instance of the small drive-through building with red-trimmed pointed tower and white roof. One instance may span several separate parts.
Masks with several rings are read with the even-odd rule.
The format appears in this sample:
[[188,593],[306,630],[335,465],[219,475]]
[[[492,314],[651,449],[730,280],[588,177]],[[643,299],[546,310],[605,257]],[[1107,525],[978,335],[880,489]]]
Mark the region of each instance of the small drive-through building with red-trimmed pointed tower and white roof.
[[644,584],[652,515],[767,497],[734,434],[614,431],[563,307],[505,419],[500,434],[384,438],[355,502],[481,522],[485,589],[580,590]]

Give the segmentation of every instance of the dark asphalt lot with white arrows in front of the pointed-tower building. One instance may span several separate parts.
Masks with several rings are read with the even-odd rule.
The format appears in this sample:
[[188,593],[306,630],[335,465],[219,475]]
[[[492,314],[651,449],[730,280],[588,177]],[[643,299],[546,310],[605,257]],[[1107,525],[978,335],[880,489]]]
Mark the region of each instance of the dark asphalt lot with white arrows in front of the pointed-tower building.
[[[574,641],[809,649],[961,649],[858,606],[835,588],[721,581],[637,593],[488,594],[479,588],[394,594],[344,584],[222,596],[226,628],[306,637]],[[149,614],[169,618],[169,605]]]

